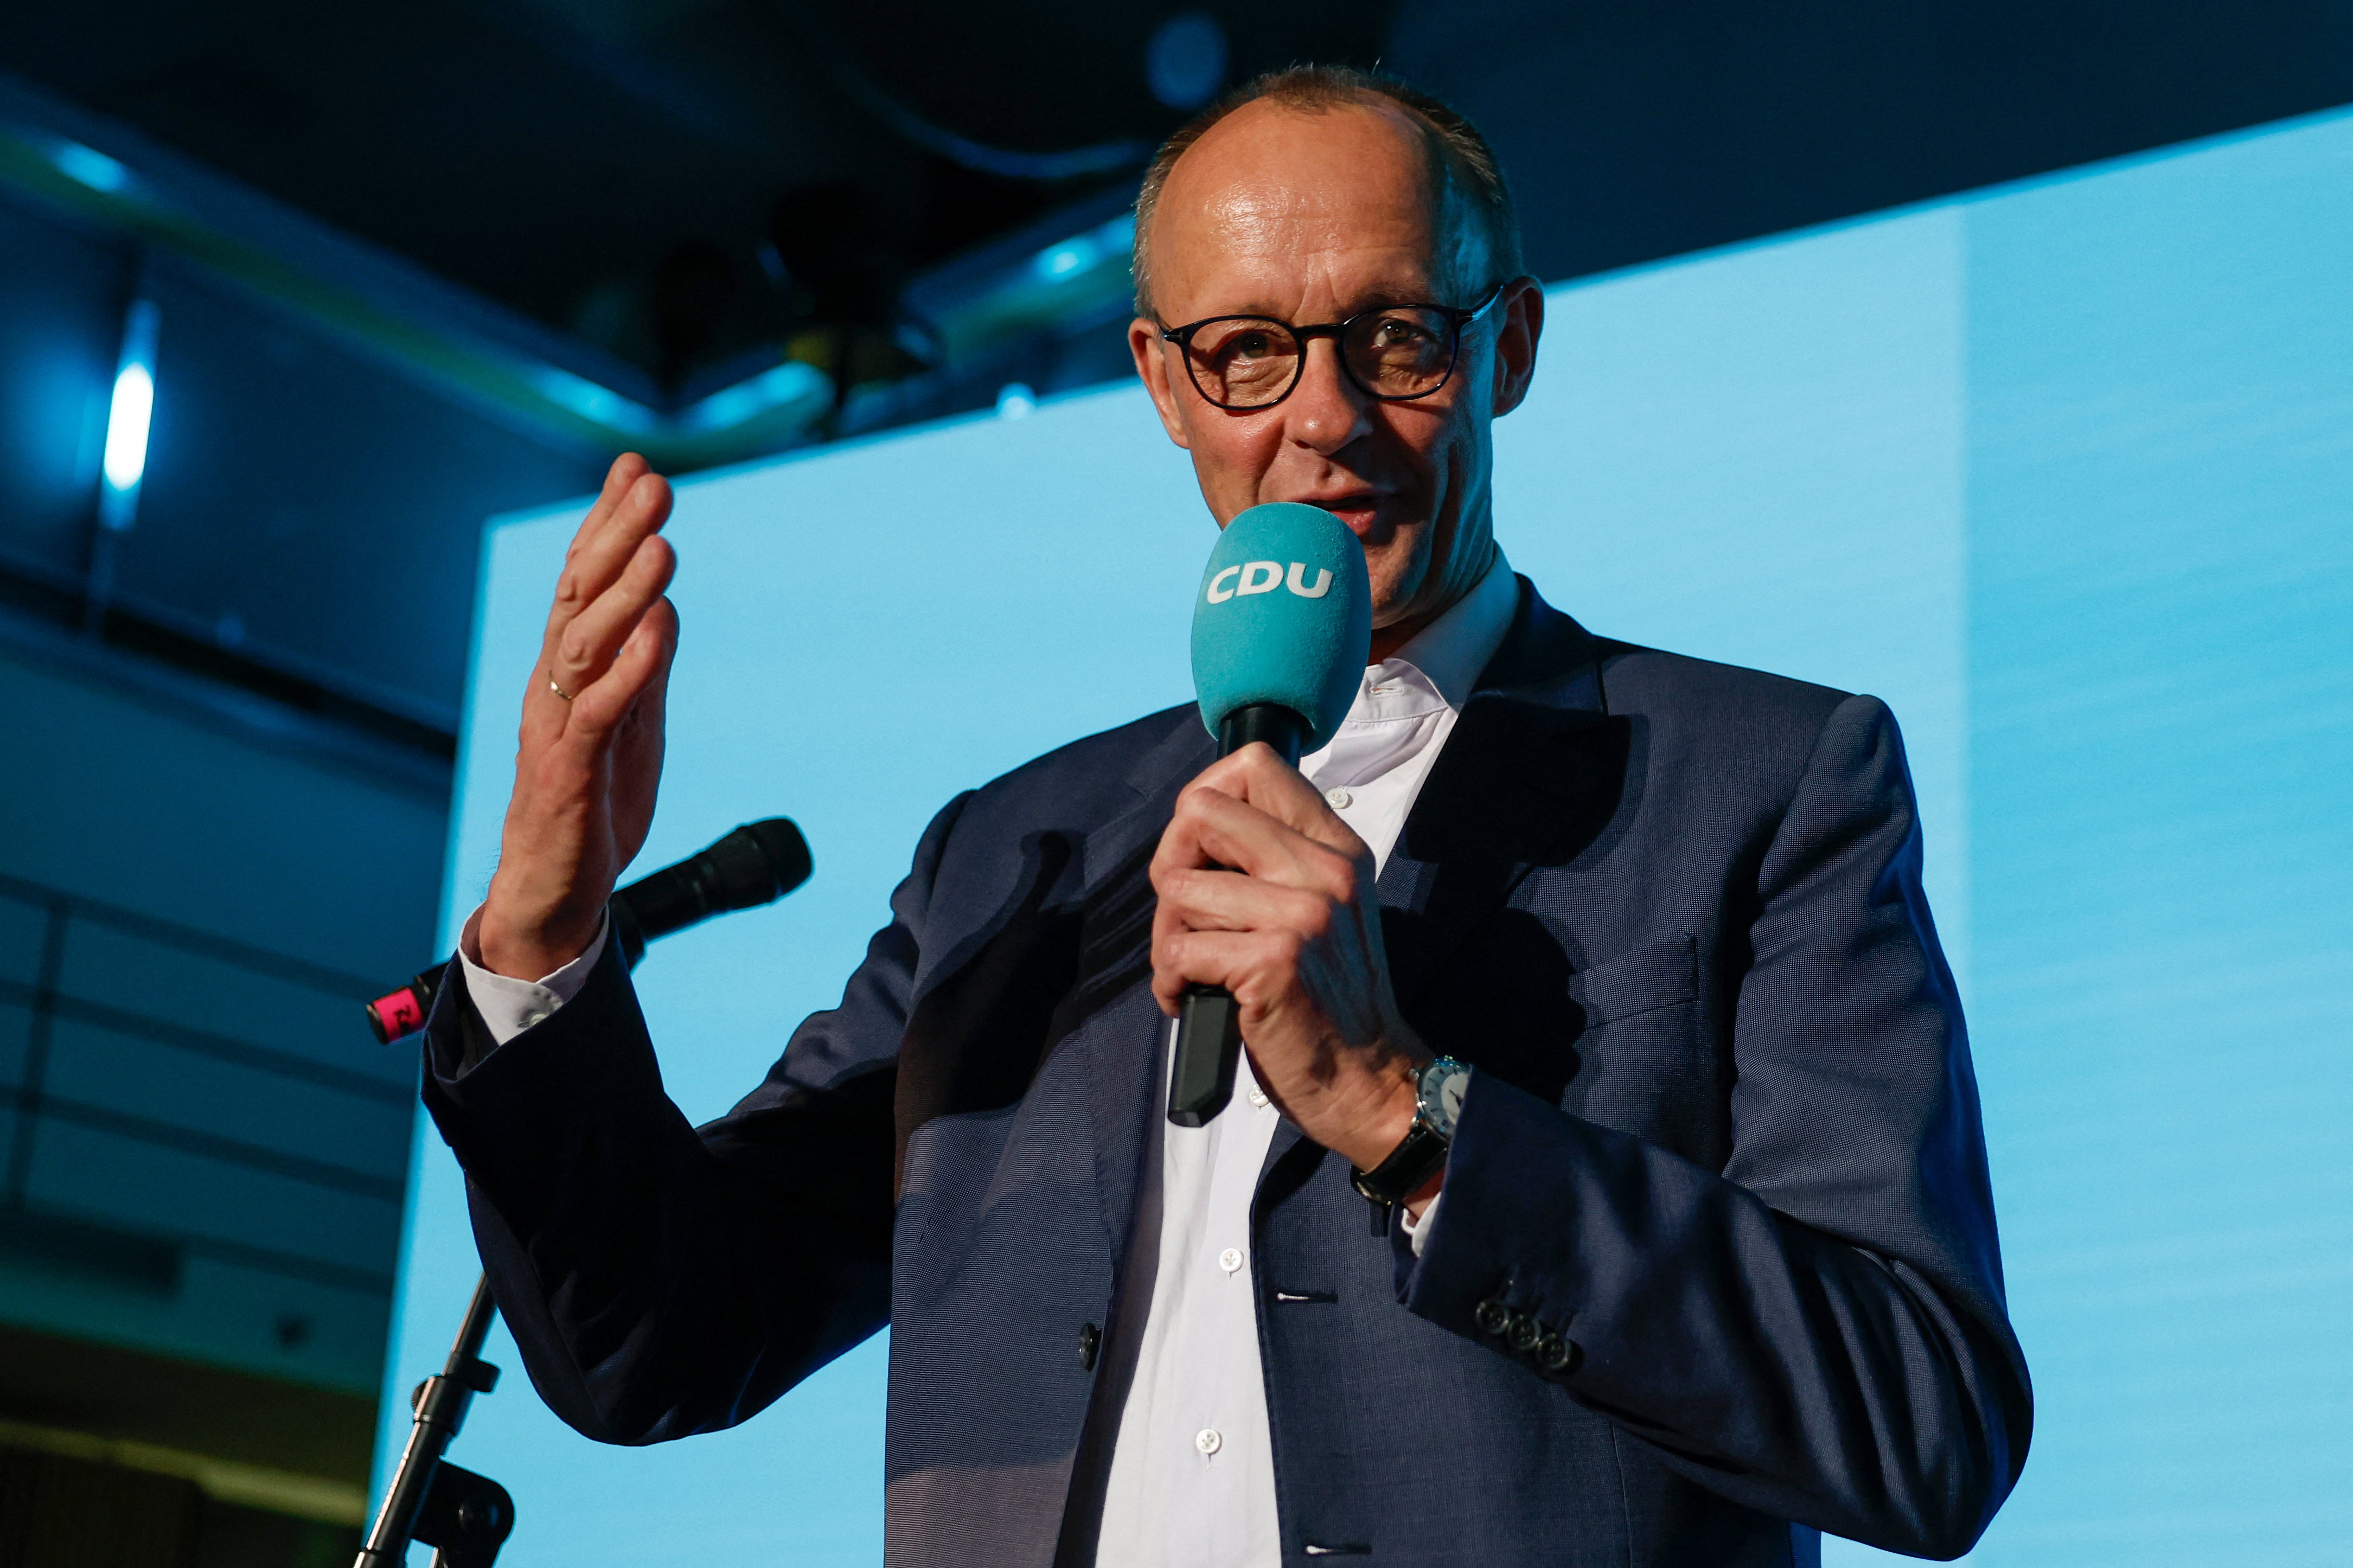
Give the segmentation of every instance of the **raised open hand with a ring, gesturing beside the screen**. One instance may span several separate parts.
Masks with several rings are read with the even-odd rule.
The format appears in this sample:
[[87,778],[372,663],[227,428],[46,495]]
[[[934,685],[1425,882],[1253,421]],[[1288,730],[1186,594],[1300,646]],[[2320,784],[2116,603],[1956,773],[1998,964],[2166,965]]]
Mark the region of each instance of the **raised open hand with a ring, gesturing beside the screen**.
[[539,979],[588,951],[614,881],[645,845],[678,652],[668,518],[671,485],[624,452],[565,551],[475,932],[496,975]]

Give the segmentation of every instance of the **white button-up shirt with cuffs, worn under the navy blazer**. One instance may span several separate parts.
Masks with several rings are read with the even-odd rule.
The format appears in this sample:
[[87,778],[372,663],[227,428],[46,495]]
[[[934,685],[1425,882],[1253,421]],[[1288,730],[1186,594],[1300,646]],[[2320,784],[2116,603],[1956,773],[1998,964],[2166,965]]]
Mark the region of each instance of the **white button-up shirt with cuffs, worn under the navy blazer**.
[[[1339,735],[1322,751],[1299,758],[1299,772],[1365,841],[1377,869],[1388,864],[1471,685],[1504,645],[1518,603],[1511,565],[1497,551],[1471,593],[1395,655],[1365,669],[1365,685]],[[459,963],[466,965],[466,991],[482,1026],[499,1045],[576,996],[605,949],[605,932],[598,932],[586,954],[534,984],[480,968],[473,925],[466,923]],[[1172,1048],[1174,1026],[1162,1050]],[[1153,1255],[1132,1257],[1151,1267],[1151,1288],[1122,1302],[1113,1326],[1113,1333],[1136,1335],[1136,1351],[1104,1488],[1099,1563],[1282,1563],[1249,1262],[1249,1203],[1278,1121],[1247,1055],[1235,1071],[1233,1102],[1209,1125],[1172,1128],[1165,1116],[1153,1116],[1160,1180],[1141,1212],[1158,1208],[1158,1245]],[[1435,1222],[1438,1201],[1419,1224],[1407,1227],[1417,1253]],[[1151,1241],[1139,1227],[1132,1245],[1141,1253]],[[1132,1269],[1132,1278],[1144,1278],[1141,1267]]]

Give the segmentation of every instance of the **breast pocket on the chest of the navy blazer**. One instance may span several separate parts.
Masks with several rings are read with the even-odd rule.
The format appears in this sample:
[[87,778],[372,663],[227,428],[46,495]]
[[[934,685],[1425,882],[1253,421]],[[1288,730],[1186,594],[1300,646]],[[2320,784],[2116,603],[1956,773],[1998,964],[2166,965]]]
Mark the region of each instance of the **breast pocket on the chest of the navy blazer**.
[[1569,975],[1584,1015],[1560,1109],[1704,1156],[1722,1123],[1699,1048],[1699,939],[1675,932]]

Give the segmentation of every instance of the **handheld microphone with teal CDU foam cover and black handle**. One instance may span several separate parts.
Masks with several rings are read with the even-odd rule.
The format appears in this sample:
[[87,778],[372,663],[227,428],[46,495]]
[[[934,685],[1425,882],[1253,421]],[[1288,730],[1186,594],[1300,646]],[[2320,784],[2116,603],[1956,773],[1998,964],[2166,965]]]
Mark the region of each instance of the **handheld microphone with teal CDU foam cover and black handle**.
[[[1193,600],[1193,690],[1217,753],[1266,742],[1299,765],[1348,716],[1372,655],[1365,546],[1320,506],[1268,501],[1233,518]],[[1202,1128],[1233,1099],[1242,1010],[1188,986],[1176,1010],[1169,1121]]]

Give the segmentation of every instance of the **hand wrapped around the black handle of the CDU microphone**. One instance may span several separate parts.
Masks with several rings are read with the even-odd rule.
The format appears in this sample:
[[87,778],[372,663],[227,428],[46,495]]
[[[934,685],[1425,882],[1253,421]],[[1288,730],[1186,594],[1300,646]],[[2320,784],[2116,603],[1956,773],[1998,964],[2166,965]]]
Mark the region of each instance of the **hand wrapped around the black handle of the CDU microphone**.
[[1372,852],[1268,746],[1212,763],[1153,855],[1153,996],[1233,991],[1259,1085],[1360,1170],[1414,1123],[1409,1069],[1431,1059],[1398,1012]]

